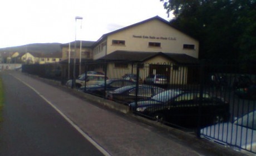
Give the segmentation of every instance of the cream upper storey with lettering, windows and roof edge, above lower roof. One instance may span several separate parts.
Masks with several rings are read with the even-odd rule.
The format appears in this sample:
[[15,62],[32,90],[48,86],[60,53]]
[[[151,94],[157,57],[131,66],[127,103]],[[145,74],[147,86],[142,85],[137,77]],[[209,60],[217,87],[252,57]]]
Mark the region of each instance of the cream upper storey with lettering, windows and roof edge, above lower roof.
[[93,60],[116,50],[186,54],[198,58],[199,41],[158,16],[104,34],[93,48]]

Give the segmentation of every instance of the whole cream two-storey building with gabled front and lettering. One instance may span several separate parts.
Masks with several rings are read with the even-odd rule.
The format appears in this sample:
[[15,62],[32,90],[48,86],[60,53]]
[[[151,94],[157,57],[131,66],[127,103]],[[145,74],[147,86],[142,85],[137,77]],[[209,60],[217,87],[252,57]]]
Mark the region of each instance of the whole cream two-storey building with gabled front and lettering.
[[[182,83],[187,83],[189,82],[188,77],[191,77],[188,75],[191,70],[187,67],[185,72],[183,70],[181,73],[179,67],[184,68],[188,64],[198,63],[199,56],[198,40],[171,27],[168,21],[158,16],[104,34],[95,42],[84,41],[82,43],[82,50],[87,51],[87,54],[90,53],[90,57],[83,57],[86,59],[81,64],[105,61],[106,65],[94,66],[94,70],[104,71],[105,66],[110,71],[107,72],[107,76],[110,78],[118,78],[111,75],[116,72],[122,72],[120,75],[134,72],[136,64],[149,64],[142,79],[150,74],[164,74],[169,75],[170,83],[174,83],[170,79],[171,75],[180,72],[177,75],[186,77]],[[72,55],[74,53],[72,46],[67,46],[67,44],[63,46],[63,59],[68,58],[67,56],[79,58],[79,44],[76,46],[75,56]],[[67,49],[67,47],[71,48]],[[70,63],[70,61],[68,62]],[[76,60],[76,63],[80,62]],[[82,69],[82,71],[84,70]]]

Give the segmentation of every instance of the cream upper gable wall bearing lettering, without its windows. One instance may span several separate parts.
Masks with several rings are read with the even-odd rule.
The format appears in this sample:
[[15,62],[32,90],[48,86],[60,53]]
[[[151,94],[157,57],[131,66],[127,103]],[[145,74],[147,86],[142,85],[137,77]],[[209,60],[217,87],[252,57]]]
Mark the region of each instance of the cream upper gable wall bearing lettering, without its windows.
[[[112,45],[112,40],[124,40],[125,45]],[[161,47],[150,47],[149,42],[160,43]],[[195,49],[183,49],[183,44],[193,44]],[[163,53],[187,54],[194,58],[198,58],[199,53],[197,40],[157,19],[109,35],[106,47],[107,49],[100,51],[100,53],[98,51],[96,55],[93,55],[93,59],[99,59],[116,50],[161,51]]]

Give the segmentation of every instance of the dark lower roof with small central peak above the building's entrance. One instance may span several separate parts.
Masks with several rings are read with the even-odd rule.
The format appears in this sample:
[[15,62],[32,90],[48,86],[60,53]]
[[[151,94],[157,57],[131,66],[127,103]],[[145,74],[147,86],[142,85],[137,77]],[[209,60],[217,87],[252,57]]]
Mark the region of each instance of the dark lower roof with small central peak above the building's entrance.
[[155,56],[164,56],[165,58],[174,61],[178,64],[198,64],[199,60],[186,54],[162,53],[162,52],[142,52],[142,51],[124,51],[117,50],[108,54],[99,60],[107,61],[135,61],[144,62]]

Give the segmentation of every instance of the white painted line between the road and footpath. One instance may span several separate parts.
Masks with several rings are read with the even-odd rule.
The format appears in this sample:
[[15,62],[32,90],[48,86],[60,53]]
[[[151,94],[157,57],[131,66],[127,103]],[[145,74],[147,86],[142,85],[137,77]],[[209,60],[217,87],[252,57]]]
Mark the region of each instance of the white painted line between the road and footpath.
[[[13,76],[13,75],[12,75]],[[68,123],[70,123],[80,134],[82,134],[82,136],[84,138],[87,139],[87,141],[89,141],[91,144],[93,144],[98,150],[100,150],[100,152],[106,156],[111,156],[104,148],[101,147],[100,144],[97,144],[95,141],[93,141],[93,139],[91,137],[89,137],[85,132],[82,131],[82,129],[80,127],[78,127],[70,118],[68,118],[65,114],[63,114],[55,105],[53,105],[50,101],[47,100],[47,98],[45,98],[40,92],[38,92],[36,89],[34,89],[32,86],[28,85],[26,82],[22,81],[21,79],[19,79],[16,76],[13,76],[16,79],[18,79],[19,81],[21,81],[24,85],[28,86],[29,88],[31,88],[33,91],[35,91],[37,93],[37,95],[39,95],[40,97],[43,98],[43,100],[45,100],[50,106],[52,106],[58,113],[60,113],[60,115],[66,119],[66,121]]]

